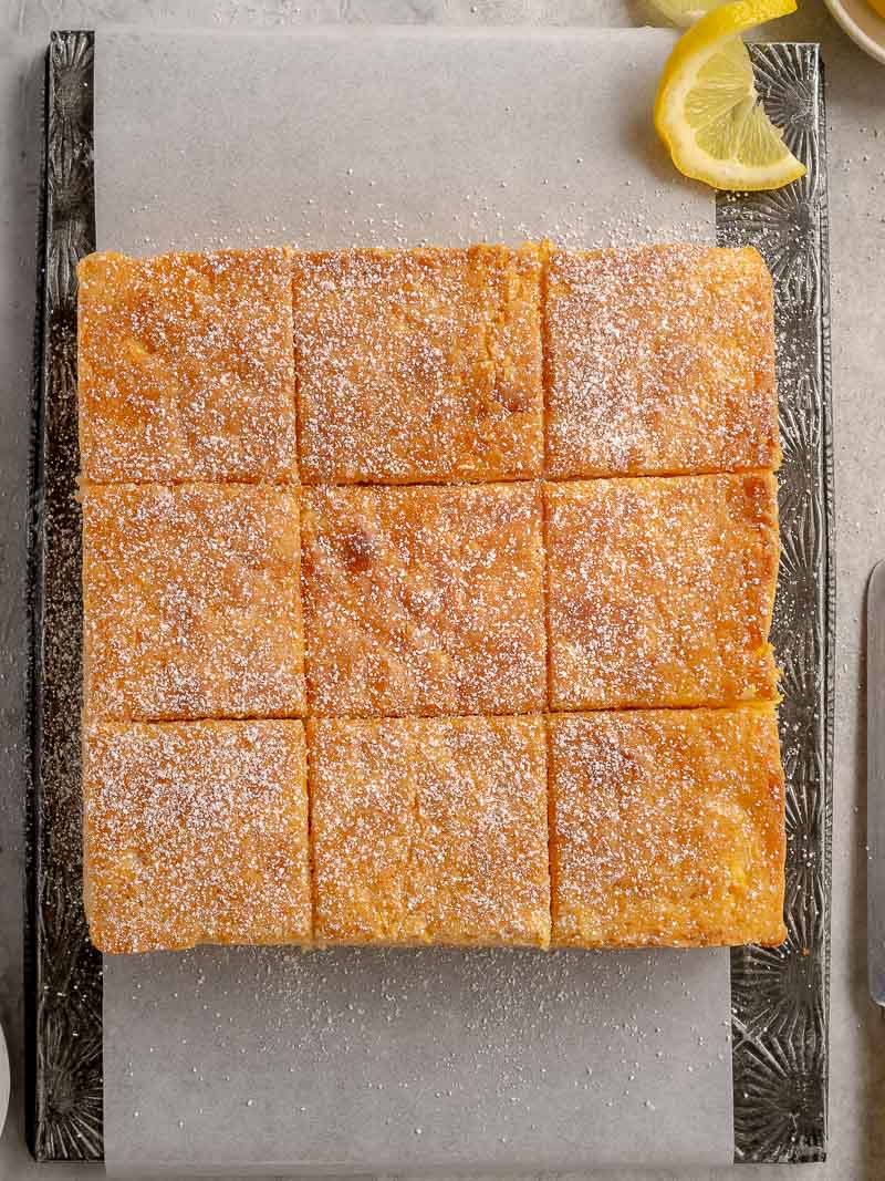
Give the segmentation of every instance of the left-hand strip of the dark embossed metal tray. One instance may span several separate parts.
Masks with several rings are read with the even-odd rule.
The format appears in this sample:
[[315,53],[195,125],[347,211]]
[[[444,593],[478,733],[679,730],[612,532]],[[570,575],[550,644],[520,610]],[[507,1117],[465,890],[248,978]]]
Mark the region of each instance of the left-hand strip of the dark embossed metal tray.
[[101,957],[80,872],[78,259],[94,249],[92,33],[46,56],[37,380],[30,485],[31,751],[27,1136],[38,1161],[100,1161]]

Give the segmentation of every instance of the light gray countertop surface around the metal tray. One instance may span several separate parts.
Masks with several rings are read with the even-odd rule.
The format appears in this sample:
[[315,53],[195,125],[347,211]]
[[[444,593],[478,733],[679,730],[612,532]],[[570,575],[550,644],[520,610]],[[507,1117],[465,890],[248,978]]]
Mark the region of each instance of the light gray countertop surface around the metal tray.
[[[885,66],[865,58],[820,0],[778,24],[779,39],[820,40],[827,66],[833,396],[837,479],[837,703],[833,784],[830,1161],[815,1177],[885,1176],[885,1023],[866,992],[864,602],[885,556]],[[643,24],[624,0],[0,0],[0,1020],[13,1098],[1,1181],[37,1174],[24,1143],[21,899],[25,839],[25,513],[35,292],[41,51],[51,28],[284,28],[307,21]],[[47,1166],[53,1181],[98,1170]],[[781,1167],[701,1170],[681,1181],[784,1176]],[[674,1177],[669,1172],[607,1173]]]

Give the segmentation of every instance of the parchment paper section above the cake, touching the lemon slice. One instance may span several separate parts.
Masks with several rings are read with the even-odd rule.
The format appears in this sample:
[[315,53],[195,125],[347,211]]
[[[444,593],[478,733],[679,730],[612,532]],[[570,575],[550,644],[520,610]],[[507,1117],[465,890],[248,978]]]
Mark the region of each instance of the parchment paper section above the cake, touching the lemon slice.
[[101,249],[710,237],[651,128],[664,30],[99,33]]

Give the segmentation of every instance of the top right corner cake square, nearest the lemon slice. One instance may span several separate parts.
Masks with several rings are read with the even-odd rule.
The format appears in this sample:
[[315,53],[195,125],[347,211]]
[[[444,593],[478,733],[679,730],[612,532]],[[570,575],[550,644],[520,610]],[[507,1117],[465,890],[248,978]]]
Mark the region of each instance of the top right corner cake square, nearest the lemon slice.
[[774,302],[756,250],[553,250],[545,333],[549,475],[778,465]]

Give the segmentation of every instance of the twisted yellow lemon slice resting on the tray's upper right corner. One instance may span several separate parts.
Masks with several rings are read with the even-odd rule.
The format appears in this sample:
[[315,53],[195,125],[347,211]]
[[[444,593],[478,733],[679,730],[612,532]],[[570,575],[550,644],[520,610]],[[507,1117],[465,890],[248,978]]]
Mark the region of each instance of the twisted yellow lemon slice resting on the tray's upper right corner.
[[805,175],[756,94],[741,33],[795,0],[736,0],[702,17],[667,60],[655,126],[684,176],[716,189],[780,189]]

